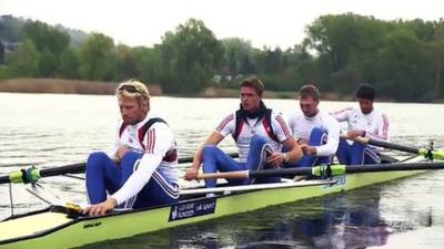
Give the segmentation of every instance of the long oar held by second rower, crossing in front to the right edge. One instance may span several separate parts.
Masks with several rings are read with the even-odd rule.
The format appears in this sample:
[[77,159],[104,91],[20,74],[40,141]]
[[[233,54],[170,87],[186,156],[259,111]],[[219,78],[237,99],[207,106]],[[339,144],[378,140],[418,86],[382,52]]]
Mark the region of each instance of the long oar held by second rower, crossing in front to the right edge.
[[354,173],[372,172],[404,172],[423,169],[444,169],[444,162],[440,163],[393,163],[393,164],[366,164],[366,165],[321,165],[302,168],[259,169],[228,173],[201,174],[199,179],[210,178],[249,178],[249,177],[272,177],[272,176],[336,176]]

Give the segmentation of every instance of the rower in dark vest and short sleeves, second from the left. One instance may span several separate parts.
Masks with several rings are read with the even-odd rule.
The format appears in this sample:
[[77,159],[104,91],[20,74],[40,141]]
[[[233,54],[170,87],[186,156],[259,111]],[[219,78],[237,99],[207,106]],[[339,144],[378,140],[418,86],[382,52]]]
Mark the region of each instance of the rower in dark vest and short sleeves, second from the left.
[[[185,174],[186,180],[196,179],[201,164],[204,173],[215,173],[280,167],[283,163],[295,163],[301,158],[301,148],[284,118],[262,102],[263,91],[264,85],[256,77],[249,77],[241,83],[240,108],[223,118],[196,151],[193,164]],[[238,146],[239,162],[218,147],[229,134]],[[289,153],[282,153],[282,145],[290,148]],[[255,183],[280,181],[280,178],[261,180]],[[242,185],[251,184],[254,179],[228,181],[230,185]],[[205,179],[206,187],[215,185],[215,179]]]

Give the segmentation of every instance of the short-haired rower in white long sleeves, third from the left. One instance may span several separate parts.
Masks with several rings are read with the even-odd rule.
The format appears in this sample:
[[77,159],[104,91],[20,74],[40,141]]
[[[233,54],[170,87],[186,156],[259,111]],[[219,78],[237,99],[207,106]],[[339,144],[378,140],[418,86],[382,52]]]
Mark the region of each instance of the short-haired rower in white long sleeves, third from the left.
[[302,113],[293,113],[289,117],[289,125],[304,156],[297,164],[289,166],[331,164],[339,145],[340,124],[330,114],[319,110],[320,91],[315,85],[301,87],[299,103]]

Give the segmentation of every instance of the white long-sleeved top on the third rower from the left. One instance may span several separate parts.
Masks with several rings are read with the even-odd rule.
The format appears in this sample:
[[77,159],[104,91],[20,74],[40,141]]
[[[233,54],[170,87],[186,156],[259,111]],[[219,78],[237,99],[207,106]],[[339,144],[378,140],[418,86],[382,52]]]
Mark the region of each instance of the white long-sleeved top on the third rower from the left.
[[289,125],[296,139],[310,141],[310,134],[314,127],[319,127],[327,134],[326,144],[314,146],[317,156],[332,156],[336,154],[340,143],[340,123],[327,113],[319,111],[313,117],[307,117],[303,113],[294,113],[289,117]]

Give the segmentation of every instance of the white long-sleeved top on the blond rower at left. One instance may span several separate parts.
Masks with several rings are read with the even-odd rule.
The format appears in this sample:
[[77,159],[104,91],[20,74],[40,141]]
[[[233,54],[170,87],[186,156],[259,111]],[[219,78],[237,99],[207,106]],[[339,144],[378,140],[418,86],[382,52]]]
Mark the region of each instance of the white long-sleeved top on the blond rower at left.
[[171,128],[165,123],[155,122],[143,136],[145,148],[143,148],[139,142],[138,131],[152,117],[157,116],[150,115],[149,113],[147,117],[138,124],[127,125],[121,135],[119,133],[122,122],[119,123],[117,142],[108,155],[112,158],[119,146],[124,145],[134,152],[143,153],[134,173],[128,178],[124,185],[111,196],[119,205],[138,195],[150,180],[154,170],[160,172],[169,183],[178,184],[179,181],[178,169],[174,167],[178,165],[178,160],[162,160],[167,152],[175,148],[174,135]]

